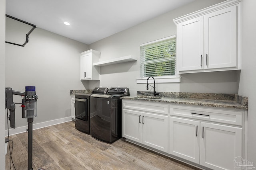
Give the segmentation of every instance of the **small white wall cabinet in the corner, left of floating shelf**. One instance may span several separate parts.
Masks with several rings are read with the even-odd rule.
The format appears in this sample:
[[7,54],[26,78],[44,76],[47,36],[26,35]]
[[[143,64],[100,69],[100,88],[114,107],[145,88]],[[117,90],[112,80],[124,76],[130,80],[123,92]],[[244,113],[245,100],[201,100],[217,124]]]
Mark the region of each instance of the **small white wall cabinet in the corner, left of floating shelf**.
[[100,61],[100,52],[88,50],[80,53],[80,80],[100,80],[100,67],[93,63]]

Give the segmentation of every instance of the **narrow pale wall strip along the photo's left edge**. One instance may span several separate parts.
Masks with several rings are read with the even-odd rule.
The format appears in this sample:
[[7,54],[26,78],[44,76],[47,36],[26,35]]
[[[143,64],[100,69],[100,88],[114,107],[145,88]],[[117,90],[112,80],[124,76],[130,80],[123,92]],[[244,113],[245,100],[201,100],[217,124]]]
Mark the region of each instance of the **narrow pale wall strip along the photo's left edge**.
[[0,0],[0,170],[5,170],[5,0]]

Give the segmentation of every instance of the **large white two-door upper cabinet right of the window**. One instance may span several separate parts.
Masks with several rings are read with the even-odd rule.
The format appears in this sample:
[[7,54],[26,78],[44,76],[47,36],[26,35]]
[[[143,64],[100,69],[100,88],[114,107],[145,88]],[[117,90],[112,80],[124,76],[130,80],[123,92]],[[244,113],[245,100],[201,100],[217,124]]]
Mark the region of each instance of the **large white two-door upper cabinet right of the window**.
[[241,0],[177,18],[178,73],[241,69]]

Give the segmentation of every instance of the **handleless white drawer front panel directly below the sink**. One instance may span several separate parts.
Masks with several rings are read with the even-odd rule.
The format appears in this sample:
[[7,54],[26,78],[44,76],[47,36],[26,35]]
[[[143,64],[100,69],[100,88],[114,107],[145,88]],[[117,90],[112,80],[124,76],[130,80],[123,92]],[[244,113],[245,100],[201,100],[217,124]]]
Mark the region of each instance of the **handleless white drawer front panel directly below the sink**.
[[122,107],[126,109],[135,109],[146,112],[154,112],[168,115],[168,105],[155,102],[140,102],[133,100],[122,100]]

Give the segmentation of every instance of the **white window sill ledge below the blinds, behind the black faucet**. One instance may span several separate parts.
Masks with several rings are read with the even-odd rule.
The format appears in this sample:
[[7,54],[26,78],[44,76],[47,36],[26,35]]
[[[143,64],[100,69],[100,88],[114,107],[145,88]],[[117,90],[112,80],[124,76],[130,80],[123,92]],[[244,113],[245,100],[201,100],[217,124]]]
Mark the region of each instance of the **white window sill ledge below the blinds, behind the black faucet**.
[[[146,84],[147,83],[147,77],[144,78],[137,78],[136,83],[137,84]],[[154,77],[156,83],[180,83],[181,76],[180,74],[176,74],[174,76],[158,76]],[[148,80],[148,82],[152,83],[154,82],[152,78]]]

